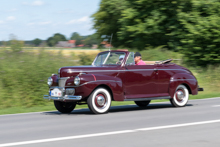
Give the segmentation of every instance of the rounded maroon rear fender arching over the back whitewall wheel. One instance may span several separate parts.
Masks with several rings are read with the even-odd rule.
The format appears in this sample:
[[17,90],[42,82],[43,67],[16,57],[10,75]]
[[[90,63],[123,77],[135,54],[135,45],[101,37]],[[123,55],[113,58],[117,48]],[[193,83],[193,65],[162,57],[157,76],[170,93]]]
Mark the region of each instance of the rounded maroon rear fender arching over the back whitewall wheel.
[[198,94],[198,82],[192,74],[177,73],[170,78],[169,94],[174,96],[178,85],[185,85],[189,93],[192,95]]

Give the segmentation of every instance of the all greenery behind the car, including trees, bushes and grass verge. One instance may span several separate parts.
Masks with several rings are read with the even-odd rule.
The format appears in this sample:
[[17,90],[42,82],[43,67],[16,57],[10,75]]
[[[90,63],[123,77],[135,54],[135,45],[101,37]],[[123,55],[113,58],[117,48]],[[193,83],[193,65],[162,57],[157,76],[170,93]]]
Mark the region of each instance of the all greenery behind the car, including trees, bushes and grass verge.
[[[91,64],[99,50],[84,47],[128,48],[149,61],[172,58],[190,69],[205,90],[190,99],[219,97],[219,7],[216,0],[101,0],[91,16],[96,30],[92,35],[74,32],[68,38],[56,33],[32,41],[11,35],[9,41],[0,41],[0,114],[54,109],[42,98],[48,92],[47,78],[62,66]],[[55,48],[67,40],[75,40],[81,50]],[[122,104],[133,102],[112,105]]]

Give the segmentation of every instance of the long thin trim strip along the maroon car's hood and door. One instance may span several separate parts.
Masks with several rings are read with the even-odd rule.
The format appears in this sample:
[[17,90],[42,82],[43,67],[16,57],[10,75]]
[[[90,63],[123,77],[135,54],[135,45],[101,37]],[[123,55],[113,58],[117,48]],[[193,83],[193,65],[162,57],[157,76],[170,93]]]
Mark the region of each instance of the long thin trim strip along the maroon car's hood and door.
[[[128,70],[74,70],[74,71],[68,71],[67,73],[74,73],[74,72],[120,72],[120,71],[151,71],[154,69],[128,69]],[[157,69],[157,70],[182,70],[187,71],[185,69]],[[188,72],[188,71],[187,71]]]

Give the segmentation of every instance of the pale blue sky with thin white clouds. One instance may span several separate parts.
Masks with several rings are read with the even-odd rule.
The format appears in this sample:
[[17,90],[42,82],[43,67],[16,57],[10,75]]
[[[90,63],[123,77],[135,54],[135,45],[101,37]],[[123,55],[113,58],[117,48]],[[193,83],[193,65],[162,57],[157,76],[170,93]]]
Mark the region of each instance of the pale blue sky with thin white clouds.
[[21,40],[47,39],[55,33],[90,35],[90,16],[101,0],[1,0],[0,41],[14,34]]

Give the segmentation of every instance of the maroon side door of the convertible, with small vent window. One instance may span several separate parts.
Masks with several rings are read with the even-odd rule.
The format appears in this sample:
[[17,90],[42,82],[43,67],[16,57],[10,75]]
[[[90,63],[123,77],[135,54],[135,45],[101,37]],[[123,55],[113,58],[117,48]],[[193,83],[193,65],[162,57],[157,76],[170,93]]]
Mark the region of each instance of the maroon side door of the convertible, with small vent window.
[[[131,54],[127,61],[134,60]],[[125,98],[154,97],[157,94],[157,79],[156,65],[134,65],[127,62],[124,66],[123,78]]]

